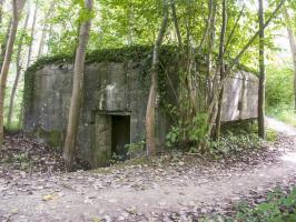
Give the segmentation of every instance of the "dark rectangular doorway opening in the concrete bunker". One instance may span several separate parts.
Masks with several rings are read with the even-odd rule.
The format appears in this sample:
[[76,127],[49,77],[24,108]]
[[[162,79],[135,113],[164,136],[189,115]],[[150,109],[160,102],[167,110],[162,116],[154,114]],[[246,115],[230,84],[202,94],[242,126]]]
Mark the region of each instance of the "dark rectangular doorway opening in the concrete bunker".
[[117,161],[128,159],[127,145],[130,143],[130,117],[129,115],[111,115],[112,117],[112,135],[111,149],[112,158]]

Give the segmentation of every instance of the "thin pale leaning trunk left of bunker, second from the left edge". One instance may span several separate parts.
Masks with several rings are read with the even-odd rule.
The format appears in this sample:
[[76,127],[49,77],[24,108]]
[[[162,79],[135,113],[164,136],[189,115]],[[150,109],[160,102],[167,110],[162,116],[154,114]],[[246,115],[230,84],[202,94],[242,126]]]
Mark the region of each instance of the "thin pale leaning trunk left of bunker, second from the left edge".
[[16,98],[16,93],[17,93],[17,89],[18,89],[18,84],[19,84],[19,79],[20,79],[20,74],[21,74],[22,43],[23,43],[23,39],[24,39],[24,32],[26,32],[27,27],[28,27],[29,17],[30,17],[30,9],[28,9],[28,13],[26,16],[23,28],[22,28],[22,33],[21,33],[20,41],[18,44],[17,74],[16,74],[16,79],[13,82],[13,87],[12,87],[12,91],[11,91],[11,95],[10,95],[10,102],[9,102],[9,111],[8,111],[8,118],[7,118],[7,127],[8,128],[11,127],[11,118],[12,118],[12,113],[13,113],[14,98]]

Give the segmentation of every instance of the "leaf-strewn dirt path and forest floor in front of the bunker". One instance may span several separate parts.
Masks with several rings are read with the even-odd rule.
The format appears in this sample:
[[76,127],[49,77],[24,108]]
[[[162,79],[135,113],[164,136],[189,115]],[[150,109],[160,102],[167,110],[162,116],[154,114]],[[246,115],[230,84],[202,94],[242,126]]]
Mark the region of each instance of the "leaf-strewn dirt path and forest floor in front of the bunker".
[[280,133],[277,142],[229,160],[162,155],[73,173],[65,172],[58,152],[8,137],[0,152],[0,221],[197,221],[229,214],[239,200],[260,202],[274,188],[296,184],[296,130],[268,122]]

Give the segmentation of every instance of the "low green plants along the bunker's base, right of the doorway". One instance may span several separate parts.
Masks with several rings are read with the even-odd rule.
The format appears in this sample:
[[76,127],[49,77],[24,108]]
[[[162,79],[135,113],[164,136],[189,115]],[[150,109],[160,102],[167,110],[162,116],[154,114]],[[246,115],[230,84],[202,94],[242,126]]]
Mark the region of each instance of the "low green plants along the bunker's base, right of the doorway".
[[[197,144],[206,142],[208,153],[215,159],[229,158],[231,155],[239,154],[245,151],[262,148],[263,141],[257,137],[257,124],[255,121],[243,120],[234,121],[223,124],[223,133],[218,141],[205,139],[207,132],[206,114],[200,114],[195,118],[191,124],[188,124],[186,129],[179,127],[172,127],[166,137],[166,147],[170,149],[185,150],[193,153],[198,153]],[[189,142],[184,141],[184,138],[189,138]],[[274,131],[268,130],[268,141],[275,141],[277,134]]]

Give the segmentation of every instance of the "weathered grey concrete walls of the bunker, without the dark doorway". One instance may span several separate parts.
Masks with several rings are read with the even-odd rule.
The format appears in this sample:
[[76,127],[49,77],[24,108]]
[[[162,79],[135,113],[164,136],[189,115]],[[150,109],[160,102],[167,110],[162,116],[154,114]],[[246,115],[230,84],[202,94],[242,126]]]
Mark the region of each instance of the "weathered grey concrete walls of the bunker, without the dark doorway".
[[[130,115],[130,142],[145,138],[148,78],[138,63],[100,62],[86,65],[83,105],[78,134],[78,155],[92,167],[110,159],[110,115]],[[26,105],[24,131],[56,147],[62,145],[70,104],[73,65],[48,64],[33,74],[32,95]],[[175,73],[170,73],[171,81]],[[175,75],[176,77],[176,75]],[[175,78],[176,80],[176,78]],[[174,97],[169,89],[167,97]],[[257,78],[237,72],[225,88],[223,121],[257,117]],[[158,143],[165,142],[169,129],[166,113],[157,111]],[[109,150],[108,150],[109,149]]]

